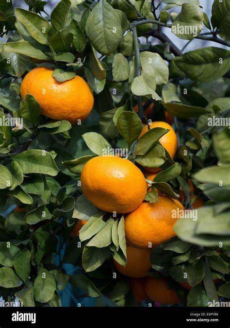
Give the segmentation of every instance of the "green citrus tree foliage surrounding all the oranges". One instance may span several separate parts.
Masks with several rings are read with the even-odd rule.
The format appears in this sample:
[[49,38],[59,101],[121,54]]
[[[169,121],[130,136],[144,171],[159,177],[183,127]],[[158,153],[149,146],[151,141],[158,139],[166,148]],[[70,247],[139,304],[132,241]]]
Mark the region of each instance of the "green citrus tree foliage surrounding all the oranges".
[[[199,0],[162,0],[158,8],[156,2],[61,0],[48,16],[46,1],[25,0],[27,9],[16,10],[0,1],[0,119],[24,120],[22,129],[0,126],[0,210],[22,207],[0,216],[4,299],[61,306],[59,292],[69,282],[91,297],[105,295],[107,304],[135,305],[128,279],[113,276],[112,259],[126,263],[124,216],[94,207],[81,190],[84,164],[108,147],[128,149],[139,167],[161,166],[146,201],[157,202],[156,190],[175,199],[183,190],[191,208],[188,177],[205,201],[197,221],[181,218],[177,237],[153,248],[151,275],[174,281],[184,305],[207,306],[216,288],[230,297],[230,130],[207,124],[230,113],[230,4],[214,0],[208,17]],[[215,44],[186,52],[162,26],[194,45],[195,38]],[[36,66],[52,68],[59,82],[84,77],[95,99],[85,121],[52,121],[32,95],[21,100],[22,78]],[[148,119],[174,118],[174,159],[158,143],[166,129],[138,139],[151,103]],[[88,222],[72,237],[77,220]],[[82,267],[81,274],[68,275],[64,263]],[[194,287],[189,293],[178,284],[184,272]]]

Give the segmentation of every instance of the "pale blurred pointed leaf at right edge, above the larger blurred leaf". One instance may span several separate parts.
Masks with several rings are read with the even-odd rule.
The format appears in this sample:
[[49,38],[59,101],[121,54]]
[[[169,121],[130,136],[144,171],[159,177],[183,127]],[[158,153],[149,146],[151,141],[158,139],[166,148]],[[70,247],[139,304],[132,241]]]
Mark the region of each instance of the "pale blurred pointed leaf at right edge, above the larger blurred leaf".
[[230,186],[230,165],[209,166],[193,174],[193,178],[202,183],[214,183],[222,186]]

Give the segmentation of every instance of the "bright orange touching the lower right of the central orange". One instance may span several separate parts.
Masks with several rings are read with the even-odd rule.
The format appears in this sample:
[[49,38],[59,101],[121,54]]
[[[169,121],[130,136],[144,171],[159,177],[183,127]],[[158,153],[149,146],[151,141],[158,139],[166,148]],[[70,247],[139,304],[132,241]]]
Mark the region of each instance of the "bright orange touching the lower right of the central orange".
[[166,195],[159,195],[157,203],[142,203],[126,215],[127,241],[134,247],[148,248],[149,243],[154,247],[173,238],[173,225],[178,220],[173,210],[177,208],[184,209],[179,201]]

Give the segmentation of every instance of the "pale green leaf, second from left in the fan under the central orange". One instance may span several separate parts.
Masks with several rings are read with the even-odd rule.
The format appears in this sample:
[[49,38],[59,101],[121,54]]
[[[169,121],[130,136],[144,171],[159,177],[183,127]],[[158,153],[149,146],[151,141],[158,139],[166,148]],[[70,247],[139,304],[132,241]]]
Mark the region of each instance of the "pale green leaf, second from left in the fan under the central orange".
[[86,244],[87,247],[94,246],[98,248],[109,246],[112,242],[112,226],[114,219],[110,218],[103,228]]

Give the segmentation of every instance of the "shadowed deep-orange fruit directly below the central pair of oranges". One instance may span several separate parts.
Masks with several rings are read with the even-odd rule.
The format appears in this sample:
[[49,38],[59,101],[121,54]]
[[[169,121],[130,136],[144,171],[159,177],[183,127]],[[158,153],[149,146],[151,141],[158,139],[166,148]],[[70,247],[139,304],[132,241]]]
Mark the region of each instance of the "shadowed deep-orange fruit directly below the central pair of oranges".
[[114,259],[114,265],[118,272],[129,277],[144,277],[151,270],[150,253],[151,249],[138,249],[127,245],[127,264],[121,265]]

